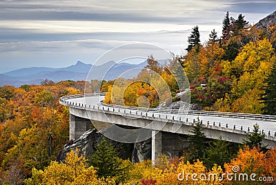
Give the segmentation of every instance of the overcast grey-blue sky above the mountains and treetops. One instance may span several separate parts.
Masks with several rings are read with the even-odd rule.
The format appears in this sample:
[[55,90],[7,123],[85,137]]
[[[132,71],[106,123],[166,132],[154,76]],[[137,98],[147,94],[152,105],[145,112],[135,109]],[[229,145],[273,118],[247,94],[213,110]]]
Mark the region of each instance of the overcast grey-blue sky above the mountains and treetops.
[[201,43],[227,11],[250,24],[275,11],[275,0],[1,0],[0,73],[21,67],[94,63],[113,47],[150,43],[175,54],[199,26]]

